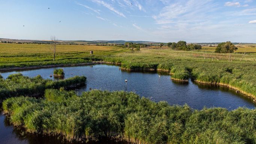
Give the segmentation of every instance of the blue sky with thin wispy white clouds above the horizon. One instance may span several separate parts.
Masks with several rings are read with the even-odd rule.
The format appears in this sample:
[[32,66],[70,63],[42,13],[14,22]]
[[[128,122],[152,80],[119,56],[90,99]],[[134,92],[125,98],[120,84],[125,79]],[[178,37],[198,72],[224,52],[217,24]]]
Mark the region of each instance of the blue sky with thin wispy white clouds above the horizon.
[[0,13],[1,38],[256,43],[256,0],[0,0]]

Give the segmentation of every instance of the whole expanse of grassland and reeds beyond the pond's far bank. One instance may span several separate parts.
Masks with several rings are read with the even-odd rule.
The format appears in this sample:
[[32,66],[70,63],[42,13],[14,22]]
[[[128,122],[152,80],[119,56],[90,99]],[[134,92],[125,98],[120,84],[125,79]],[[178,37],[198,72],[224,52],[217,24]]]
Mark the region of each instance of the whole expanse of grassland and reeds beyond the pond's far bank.
[[56,61],[53,61],[49,47],[45,44],[0,43],[0,68],[105,61],[121,63],[123,69],[170,71],[175,80],[191,78],[201,83],[228,85],[256,99],[256,54],[252,53],[256,48],[248,45],[244,46],[247,49],[245,55],[217,54],[209,49],[174,51],[154,47],[131,52],[115,46],[57,45]]

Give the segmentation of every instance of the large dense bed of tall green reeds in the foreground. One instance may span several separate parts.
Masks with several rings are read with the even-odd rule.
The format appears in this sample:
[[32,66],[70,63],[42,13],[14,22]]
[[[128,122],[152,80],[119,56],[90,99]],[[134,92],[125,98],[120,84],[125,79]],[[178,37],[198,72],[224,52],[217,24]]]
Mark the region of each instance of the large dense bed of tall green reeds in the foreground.
[[69,140],[113,136],[147,144],[256,144],[255,110],[198,111],[123,91],[92,90],[77,96],[50,89],[45,99],[6,99],[3,110],[12,124],[28,132],[61,134]]

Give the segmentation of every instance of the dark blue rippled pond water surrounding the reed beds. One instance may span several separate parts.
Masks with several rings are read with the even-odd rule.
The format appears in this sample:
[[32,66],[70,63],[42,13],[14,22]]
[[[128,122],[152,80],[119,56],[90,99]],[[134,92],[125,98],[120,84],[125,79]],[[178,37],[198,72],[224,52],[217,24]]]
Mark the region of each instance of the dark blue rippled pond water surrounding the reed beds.
[[[76,89],[78,94],[92,89],[100,90],[124,90],[135,92],[140,96],[152,101],[167,101],[170,105],[188,104],[193,109],[203,107],[223,107],[233,110],[238,107],[253,109],[255,104],[246,96],[236,93],[235,90],[227,87],[197,84],[189,81],[180,83],[170,80],[170,75],[166,72],[129,72],[120,70],[114,65],[89,65],[74,67],[58,67],[65,72],[65,78],[75,75],[86,76],[86,85]],[[54,69],[44,68],[23,71],[1,72],[6,78],[10,74],[22,73],[25,76],[35,77],[41,75],[43,78],[53,79],[50,75]],[[127,83],[125,83],[127,80]],[[8,124],[4,115],[0,115],[0,141],[3,144],[9,143],[67,143],[61,136],[32,135],[14,129]],[[115,143],[113,140],[104,139],[104,143]],[[99,142],[99,143],[102,143]],[[93,142],[94,143],[94,142]],[[95,142],[96,143],[96,142]]]

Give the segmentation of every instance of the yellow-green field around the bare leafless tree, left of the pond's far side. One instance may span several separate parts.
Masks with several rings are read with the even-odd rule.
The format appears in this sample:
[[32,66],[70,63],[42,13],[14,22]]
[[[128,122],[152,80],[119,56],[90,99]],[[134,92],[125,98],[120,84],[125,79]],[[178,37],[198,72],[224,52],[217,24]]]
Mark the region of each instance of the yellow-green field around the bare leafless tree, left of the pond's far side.
[[0,43],[0,68],[86,63],[94,51],[97,55],[123,51],[113,46],[57,45],[56,61],[50,45]]

